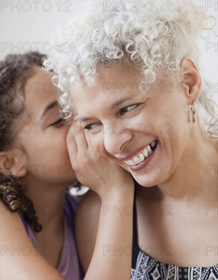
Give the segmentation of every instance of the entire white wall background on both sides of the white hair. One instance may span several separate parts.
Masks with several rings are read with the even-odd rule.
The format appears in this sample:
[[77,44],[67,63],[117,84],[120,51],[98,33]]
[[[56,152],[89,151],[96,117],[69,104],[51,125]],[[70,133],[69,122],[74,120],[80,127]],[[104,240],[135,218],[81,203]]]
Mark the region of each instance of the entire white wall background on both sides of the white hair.
[[[195,0],[194,0],[195,1]],[[49,50],[50,35],[53,30],[73,17],[87,1],[1,1],[1,59],[10,52],[32,50],[46,52]],[[36,9],[38,3],[38,9]],[[217,1],[195,1],[204,4],[207,13],[217,19]],[[19,6],[18,8],[15,7]],[[8,6],[8,7],[7,7]],[[51,9],[51,10],[50,10]],[[29,11],[28,11],[29,10]],[[50,10],[50,11],[48,11]],[[190,11],[191,13],[191,11]],[[215,32],[218,34],[217,24]],[[37,43],[39,42],[38,45]],[[216,43],[215,43],[216,42]],[[216,45],[215,45],[216,44]],[[15,46],[18,45],[18,48]],[[208,48],[206,49],[206,45]],[[205,41],[199,41],[202,53],[201,68],[207,71],[209,81],[217,82],[217,37],[212,35]]]

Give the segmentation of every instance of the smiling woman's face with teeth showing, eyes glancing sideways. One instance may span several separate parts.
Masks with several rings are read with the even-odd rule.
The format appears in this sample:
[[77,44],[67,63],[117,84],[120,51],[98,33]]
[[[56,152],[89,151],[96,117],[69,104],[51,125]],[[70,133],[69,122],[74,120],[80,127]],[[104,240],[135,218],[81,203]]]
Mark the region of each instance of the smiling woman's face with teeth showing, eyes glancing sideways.
[[[98,74],[92,87],[82,81],[71,87],[91,145],[142,186],[160,184],[173,174],[183,153],[191,152],[186,149],[191,122],[184,90],[155,81],[141,93],[142,77],[120,67],[103,68]],[[141,90],[146,88],[141,85]]]

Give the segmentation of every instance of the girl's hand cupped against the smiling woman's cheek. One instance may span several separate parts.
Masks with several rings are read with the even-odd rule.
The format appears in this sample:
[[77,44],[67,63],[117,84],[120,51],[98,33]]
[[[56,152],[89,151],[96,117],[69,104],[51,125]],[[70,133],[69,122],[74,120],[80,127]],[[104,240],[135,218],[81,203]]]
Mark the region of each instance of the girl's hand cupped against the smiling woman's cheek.
[[88,186],[102,199],[109,193],[134,188],[130,173],[110,158],[95,152],[79,121],[73,121],[67,134],[67,149],[72,169],[82,185]]

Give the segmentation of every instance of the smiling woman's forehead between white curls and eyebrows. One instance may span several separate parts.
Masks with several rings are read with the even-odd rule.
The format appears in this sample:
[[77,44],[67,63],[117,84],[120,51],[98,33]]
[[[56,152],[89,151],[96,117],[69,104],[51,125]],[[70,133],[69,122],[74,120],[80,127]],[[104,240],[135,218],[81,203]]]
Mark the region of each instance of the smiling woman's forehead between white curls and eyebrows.
[[159,79],[153,83],[146,83],[141,75],[126,68],[110,67],[102,68],[91,86],[84,80],[76,86],[71,86],[71,94],[77,109],[82,110],[82,107],[96,107],[96,104],[101,107],[110,104],[110,107],[113,107],[111,104],[114,102],[138,96],[145,98],[168,86],[169,83]]

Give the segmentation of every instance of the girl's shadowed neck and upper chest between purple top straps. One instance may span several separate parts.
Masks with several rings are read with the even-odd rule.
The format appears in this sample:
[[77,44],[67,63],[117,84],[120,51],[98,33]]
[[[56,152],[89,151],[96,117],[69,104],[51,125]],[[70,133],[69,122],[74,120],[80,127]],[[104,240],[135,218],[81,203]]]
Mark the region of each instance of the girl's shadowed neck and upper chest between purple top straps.
[[[33,234],[41,255],[58,268],[64,245],[64,198],[69,184],[55,185],[30,182],[27,195],[33,202],[42,230]],[[44,248],[49,248],[49,254]]]

